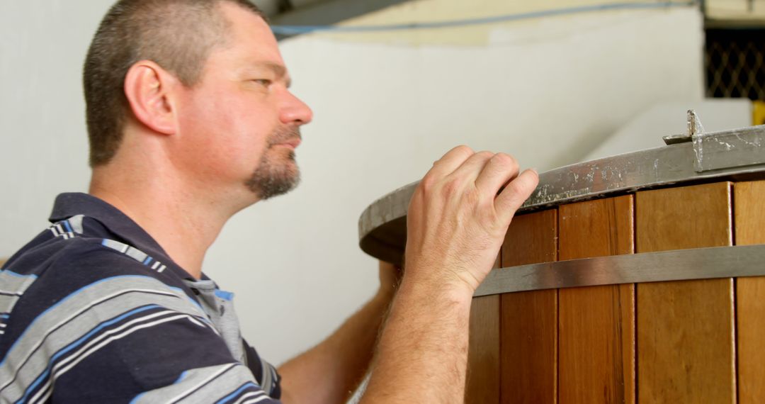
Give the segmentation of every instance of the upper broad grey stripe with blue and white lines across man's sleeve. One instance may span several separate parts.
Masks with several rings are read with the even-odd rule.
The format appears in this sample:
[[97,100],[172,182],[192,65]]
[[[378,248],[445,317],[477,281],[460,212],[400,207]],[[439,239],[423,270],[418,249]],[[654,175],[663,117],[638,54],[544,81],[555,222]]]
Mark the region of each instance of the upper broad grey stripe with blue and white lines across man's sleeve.
[[51,383],[90,354],[168,321],[189,321],[216,333],[181,289],[148,276],[116,276],[80,288],[37,316],[2,358],[0,396],[44,401]]

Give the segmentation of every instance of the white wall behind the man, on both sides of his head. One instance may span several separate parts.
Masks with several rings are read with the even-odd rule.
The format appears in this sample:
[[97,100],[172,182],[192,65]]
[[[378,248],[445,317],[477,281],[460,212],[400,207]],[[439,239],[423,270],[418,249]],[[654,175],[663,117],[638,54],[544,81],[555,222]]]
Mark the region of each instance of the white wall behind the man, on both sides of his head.
[[[86,189],[80,66],[108,5],[0,3],[0,256],[43,228],[55,194]],[[303,184],[239,213],[205,262],[236,292],[244,334],[264,357],[310,347],[373,293],[359,214],[451,146],[509,151],[544,170],[586,155],[653,103],[702,98],[694,9],[476,29],[489,30],[482,41],[454,45],[412,32],[282,44],[295,93],[315,112],[298,149]]]

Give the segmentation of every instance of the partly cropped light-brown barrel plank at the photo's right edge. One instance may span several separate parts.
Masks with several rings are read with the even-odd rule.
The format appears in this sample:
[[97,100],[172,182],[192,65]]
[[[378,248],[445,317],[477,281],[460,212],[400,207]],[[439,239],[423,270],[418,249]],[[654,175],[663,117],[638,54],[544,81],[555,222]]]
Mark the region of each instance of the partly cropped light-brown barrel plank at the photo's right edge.
[[[737,246],[765,244],[765,181],[734,184]],[[765,277],[736,280],[738,399],[765,402]]]

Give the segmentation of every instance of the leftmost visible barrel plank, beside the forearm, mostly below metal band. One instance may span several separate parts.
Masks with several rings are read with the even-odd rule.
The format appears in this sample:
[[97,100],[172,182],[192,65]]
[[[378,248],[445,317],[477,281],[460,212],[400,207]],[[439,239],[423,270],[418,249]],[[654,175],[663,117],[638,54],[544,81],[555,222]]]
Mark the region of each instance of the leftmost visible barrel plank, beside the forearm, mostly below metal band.
[[[501,266],[497,257],[494,268]],[[474,298],[470,305],[465,404],[500,402],[500,295]]]

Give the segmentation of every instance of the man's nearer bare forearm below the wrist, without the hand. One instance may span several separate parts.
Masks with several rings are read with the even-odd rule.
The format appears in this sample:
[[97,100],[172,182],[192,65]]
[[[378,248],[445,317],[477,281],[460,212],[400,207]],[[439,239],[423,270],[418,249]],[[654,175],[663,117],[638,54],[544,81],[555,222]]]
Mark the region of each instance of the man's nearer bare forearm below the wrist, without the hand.
[[404,282],[380,336],[362,402],[461,402],[470,292]]

